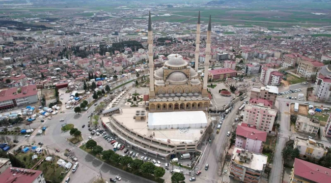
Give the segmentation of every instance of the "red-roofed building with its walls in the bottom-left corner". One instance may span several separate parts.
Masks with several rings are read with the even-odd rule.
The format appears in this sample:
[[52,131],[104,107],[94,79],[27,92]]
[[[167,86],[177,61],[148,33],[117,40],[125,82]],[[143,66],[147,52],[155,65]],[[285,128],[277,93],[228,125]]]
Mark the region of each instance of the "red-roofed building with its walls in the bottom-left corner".
[[0,174],[0,182],[46,183],[42,171],[16,167],[7,168]]

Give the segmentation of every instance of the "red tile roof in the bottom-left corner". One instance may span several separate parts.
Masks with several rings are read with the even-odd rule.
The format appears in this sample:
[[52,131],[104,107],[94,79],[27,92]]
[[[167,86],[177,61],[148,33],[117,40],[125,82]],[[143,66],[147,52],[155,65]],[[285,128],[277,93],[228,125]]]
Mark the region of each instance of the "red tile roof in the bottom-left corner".
[[[11,168],[19,169],[19,170],[26,170],[27,172],[35,172],[35,173],[24,173],[23,171],[17,172],[17,171],[11,171]],[[0,182],[2,183],[12,183],[12,182],[24,182],[24,183],[32,183],[40,174],[42,174],[42,171],[39,170],[31,170],[31,169],[25,169],[25,168],[16,168],[11,167],[7,168],[4,172],[0,174]]]

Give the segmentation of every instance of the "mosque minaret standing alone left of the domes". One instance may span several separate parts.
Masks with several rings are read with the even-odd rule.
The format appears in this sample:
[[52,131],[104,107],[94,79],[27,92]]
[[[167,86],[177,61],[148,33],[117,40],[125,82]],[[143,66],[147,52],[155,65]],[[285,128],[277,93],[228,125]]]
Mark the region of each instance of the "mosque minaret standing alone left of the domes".
[[154,60],[153,60],[153,32],[151,12],[148,17],[148,57],[149,57],[149,97],[155,98],[154,92]]

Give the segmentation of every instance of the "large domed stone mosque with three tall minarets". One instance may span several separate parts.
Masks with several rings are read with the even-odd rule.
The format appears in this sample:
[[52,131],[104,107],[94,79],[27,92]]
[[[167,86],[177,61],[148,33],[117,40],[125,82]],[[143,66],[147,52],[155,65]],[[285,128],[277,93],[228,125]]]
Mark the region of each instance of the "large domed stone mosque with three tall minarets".
[[[209,34],[209,35],[208,35]],[[196,111],[208,110],[210,106],[210,94],[207,91],[208,68],[210,57],[210,36],[211,21],[209,19],[205,74],[203,80],[198,74],[199,44],[200,44],[200,12],[197,25],[196,59],[195,68],[188,66],[188,63],[181,55],[172,56],[164,65],[154,71],[153,62],[153,32],[152,21],[148,22],[148,54],[150,88],[149,101],[146,109],[150,112],[169,111]]]

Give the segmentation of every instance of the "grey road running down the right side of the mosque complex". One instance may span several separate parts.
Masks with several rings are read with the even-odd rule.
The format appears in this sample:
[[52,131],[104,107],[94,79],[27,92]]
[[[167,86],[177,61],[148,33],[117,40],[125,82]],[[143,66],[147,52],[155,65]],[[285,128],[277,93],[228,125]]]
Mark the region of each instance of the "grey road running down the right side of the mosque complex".
[[[227,133],[228,131],[232,131],[232,124],[234,123],[234,119],[237,118],[236,111],[242,104],[242,101],[237,102],[233,105],[232,112],[229,112],[222,124],[222,127],[220,128],[220,131],[218,134],[216,134],[216,129],[219,124],[219,120],[217,124],[214,124],[214,132],[211,135],[212,142],[211,144],[207,144],[205,142],[205,146],[202,147],[203,155],[201,158],[200,163],[197,165],[198,170],[202,171],[202,173],[199,175],[200,178],[204,177],[205,180],[208,180],[209,182],[218,182],[219,176],[218,176],[218,169],[220,162],[218,161],[219,157],[222,156],[224,147],[223,144],[228,140]],[[220,118],[219,118],[220,119]],[[208,170],[205,170],[205,165],[208,164],[209,168]]]

